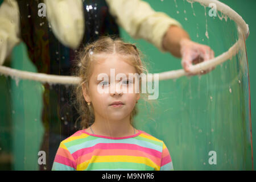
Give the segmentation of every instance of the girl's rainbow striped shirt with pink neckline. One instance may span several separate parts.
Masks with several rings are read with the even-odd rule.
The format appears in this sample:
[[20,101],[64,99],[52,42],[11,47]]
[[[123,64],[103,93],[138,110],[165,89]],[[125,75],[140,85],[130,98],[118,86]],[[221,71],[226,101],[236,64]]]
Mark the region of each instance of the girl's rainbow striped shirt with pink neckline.
[[145,131],[106,137],[79,130],[60,142],[52,170],[174,170],[168,148]]

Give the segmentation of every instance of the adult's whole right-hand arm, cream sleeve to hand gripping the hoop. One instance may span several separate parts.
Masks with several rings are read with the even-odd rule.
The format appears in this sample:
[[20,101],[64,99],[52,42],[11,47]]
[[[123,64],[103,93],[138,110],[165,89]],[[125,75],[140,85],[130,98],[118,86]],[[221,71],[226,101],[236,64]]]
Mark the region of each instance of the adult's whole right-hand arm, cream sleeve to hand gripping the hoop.
[[210,60],[214,52],[209,46],[190,40],[188,33],[177,20],[165,13],[154,11],[147,2],[141,0],[106,0],[110,13],[115,16],[134,39],[144,39],[154,44],[161,52],[170,52],[182,57],[181,65],[188,75],[203,75],[214,68],[199,73],[191,73],[192,64]]

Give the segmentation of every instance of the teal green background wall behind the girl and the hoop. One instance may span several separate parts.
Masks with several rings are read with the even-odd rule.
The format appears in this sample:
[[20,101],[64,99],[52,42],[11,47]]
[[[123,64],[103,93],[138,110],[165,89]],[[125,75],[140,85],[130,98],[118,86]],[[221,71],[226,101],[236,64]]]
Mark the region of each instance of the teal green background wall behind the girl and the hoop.
[[[172,0],[147,2],[156,11],[163,11],[177,19],[192,40],[209,45],[216,56],[227,51],[237,40],[236,25],[230,19],[227,22],[209,16],[205,19],[205,11],[208,13],[209,8],[205,10],[199,3],[193,3],[192,9],[190,3],[181,0],[177,0],[177,7]],[[250,28],[246,49],[251,78],[251,125],[255,146],[256,82],[252,69],[255,67],[253,8],[256,2],[221,2],[237,11]],[[209,39],[205,36],[206,21]],[[161,53],[144,40],[134,40],[122,28],[121,36],[126,41],[137,43],[146,55],[145,61],[150,63],[150,73],[181,69],[180,59],[169,53]],[[36,72],[22,43],[14,48],[10,60],[5,63],[9,67]],[[3,96],[0,102],[4,103],[0,106],[0,169],[36,170],[37,152],[44,130],[40,119],[43,87],[39,82],[19,81],[3,76],[0,82]],[[141,100],[135,126],[164,140],[177,170],[249,170],[251,146],[248,91],[247,63],[243,50],[208,75],[160,81],[158,101],[152,101],[154,111]],[[208,152],[212,150],[217,153],[216,165],[208,163]],[[253,153],[255,156],[255,150]]]

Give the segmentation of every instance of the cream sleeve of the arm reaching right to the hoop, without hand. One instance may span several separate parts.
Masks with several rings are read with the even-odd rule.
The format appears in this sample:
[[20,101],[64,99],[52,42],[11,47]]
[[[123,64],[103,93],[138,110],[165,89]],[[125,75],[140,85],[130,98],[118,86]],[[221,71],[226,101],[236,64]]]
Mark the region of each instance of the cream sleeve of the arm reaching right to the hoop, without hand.
[[182,27],[177,20],[165,13],[154,11],[142,0],[106,0],[110,13],[115,16],[119,26],[134,39],[145,39],[160,51],[162,39],[170,25]]

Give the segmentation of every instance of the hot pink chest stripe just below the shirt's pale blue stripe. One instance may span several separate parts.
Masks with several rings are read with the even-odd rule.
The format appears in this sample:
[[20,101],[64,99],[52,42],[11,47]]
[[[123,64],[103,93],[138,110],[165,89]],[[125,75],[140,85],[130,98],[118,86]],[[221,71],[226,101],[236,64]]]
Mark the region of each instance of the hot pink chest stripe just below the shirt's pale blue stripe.
[[138,146],[137,144],[129,144],[129,143],[97,143],[93,147],[88,147],[88,148],[82,148],[72,154],[73,158],[76,160],[82,155],[89,154],[90,152],[93,152],[96,149],[101,149],[101,150],[108,150],[108,149],[126,149],[126,150],[139,150],[142,152],[145,152],[147,154],[150,154],[156,158],[161,158],[162,153],[154,150],[152,148],[147,148],[147,147],[141,147]]

